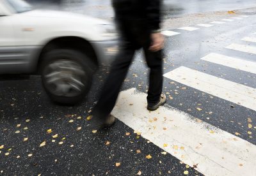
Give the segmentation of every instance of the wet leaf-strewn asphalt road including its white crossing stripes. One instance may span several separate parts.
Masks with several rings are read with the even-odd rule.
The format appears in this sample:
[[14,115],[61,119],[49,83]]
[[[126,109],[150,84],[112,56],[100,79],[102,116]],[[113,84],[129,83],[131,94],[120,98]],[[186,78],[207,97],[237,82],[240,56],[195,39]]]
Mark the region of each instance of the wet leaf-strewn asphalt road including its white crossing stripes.
[[[234,8],[240,8],[237,4],[233,4]],[[220,10],[225,6],[220,6]],[[214,21],[225,23],[211,23],[212,16]],[[143,54],[138,51],[125,79],[122,95],[136,96],[127,92],[135,88],[142,98],[129,102],[125,113],[117,106],[114,113],[119,113],[118,121],[108,130],[92,133],[91,121],[86,119],[97,101],[97,92],[104,80],[102,75],[107,70],[100,70],[95,75],[99,81],[93,85],[93,91],[76,106],[51,103],[42,90],[40,77],[2,76],[0,175],[256,173],[255,158],[252,159],[256,156],[256,109],[253,106],[256,105],[253,72],[256,15],[252,10],[244,10],[225,14],[225,19],[232,21],[223,20],[224,17],[218,15],[211,15],[208,21],[207,15],[205,17],[204,24],[213,26],[196,26],[200,23],[199,17],[193,17],[189,27],[196,27],[195,31],[178,29],[188,27],[184,26],[184,15],[178,18],[177,25],[180,26],[164,28],[172,34],[166,36],[163,60],[166,74],[163,92],[168,101],[156,114],[136,110],[136,103],[145,103],[143,93],[147,92],[148,73]],[[241,40],[244,37],[250,41]],[[239,46],[233,45],[230,49],[228,46],[232,43]],[[220,56],[212,60],[206,57],[210,59],[208,61],[202,59],[211,53],[232,57],[232,62],[220,61]],[[237,58],[242,61],[234,60]],[[236,66],[234,62],[237,62]],[[180,77],[177,69],[184,71]],[[159,129],[167,124],[161,123],[161,118],[170,121],[166,129]],[[139,123],[141,126],[138,125],[140,121],[143,121]],[[184,129],[186,125],[189,127]],[[217,174],[218,170],[223,174]]]

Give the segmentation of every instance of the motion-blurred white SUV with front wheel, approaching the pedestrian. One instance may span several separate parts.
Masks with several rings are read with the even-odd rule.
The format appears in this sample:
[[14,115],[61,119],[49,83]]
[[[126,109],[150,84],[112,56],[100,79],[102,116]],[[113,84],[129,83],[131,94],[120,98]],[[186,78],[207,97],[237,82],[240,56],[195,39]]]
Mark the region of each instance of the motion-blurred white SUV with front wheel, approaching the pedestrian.
[[40,73],[53,101],[83,99],[117,45],[115,27],[105,20],[0,0],[0,74]]

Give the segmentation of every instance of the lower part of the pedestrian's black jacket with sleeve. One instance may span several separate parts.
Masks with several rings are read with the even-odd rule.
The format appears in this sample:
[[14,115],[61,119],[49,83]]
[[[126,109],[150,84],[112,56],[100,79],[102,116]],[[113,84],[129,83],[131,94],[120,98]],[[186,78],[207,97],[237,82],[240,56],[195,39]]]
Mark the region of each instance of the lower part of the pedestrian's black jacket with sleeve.
[[140,20],[150,31],[160,28],[161,0],[112,0],[112,4],[116,20]]

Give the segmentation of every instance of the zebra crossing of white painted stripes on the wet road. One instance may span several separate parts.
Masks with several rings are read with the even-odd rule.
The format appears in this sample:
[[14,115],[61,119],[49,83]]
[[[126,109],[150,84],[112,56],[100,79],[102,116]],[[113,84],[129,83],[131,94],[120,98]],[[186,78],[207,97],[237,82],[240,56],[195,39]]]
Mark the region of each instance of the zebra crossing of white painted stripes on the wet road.
[[[190,27],[179,29],[198,30]],[[178,34],[174,31],[163,33],[168,36]],[[231,43],[224,48],[256,54],[256,47],[250,45],[250,42],[255,42],[255,38],[246,36],[241,41],[248,43]],[[246,61],[246,57],[231,57],[212,52],[200,60],[234,71],[256,74],[256,62]],[[253,87],[185,66],[163,76],[256,112],[256,89]],[[256,145],[207,122],[198,122],[196,117],[169,105],[156,112],[148,112],[145,108],[146,97],[147,94],[135,88],[121,92],[113,115],[134,129],[134,133],[141,133],[141,136],[204,175],[256,175]]]

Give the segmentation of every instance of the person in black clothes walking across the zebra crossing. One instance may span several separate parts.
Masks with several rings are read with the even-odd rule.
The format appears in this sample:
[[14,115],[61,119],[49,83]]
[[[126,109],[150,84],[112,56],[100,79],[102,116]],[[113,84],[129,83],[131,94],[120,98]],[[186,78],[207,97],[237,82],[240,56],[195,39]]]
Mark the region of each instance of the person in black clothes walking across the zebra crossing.
[[134,52],[140,48],[143,48],[150,68],[147,109],[153,111],[166,103],[166,96],[162,93],[164,38],[159,31],[161,0],[113,0],[112,4],[122,42],[119,54],[113,61],[103,85],[99,101],[93,108],[93,118],[100,120],[101,126],[111,126],[115,122],[115,117],[110,113],[115,106]]

